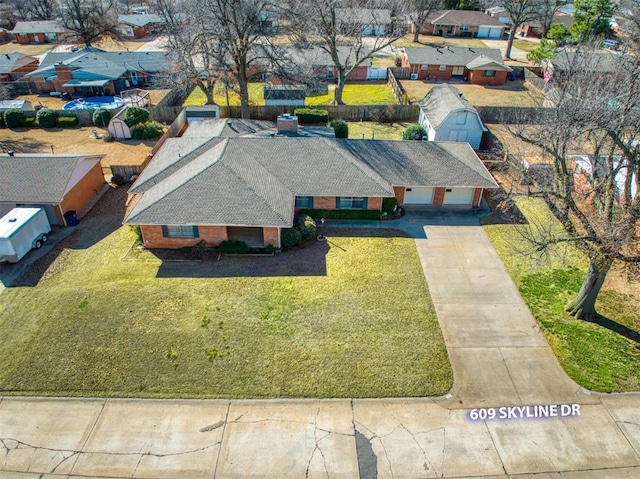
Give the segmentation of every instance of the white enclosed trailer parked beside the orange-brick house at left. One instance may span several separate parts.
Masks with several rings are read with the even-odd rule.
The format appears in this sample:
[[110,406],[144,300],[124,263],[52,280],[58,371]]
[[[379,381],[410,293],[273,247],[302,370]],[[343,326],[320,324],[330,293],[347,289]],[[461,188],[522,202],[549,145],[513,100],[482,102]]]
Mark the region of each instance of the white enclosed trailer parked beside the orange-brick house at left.
[[14,208],[0,219],[0,262],[17,263],[51,231],[43,208]]

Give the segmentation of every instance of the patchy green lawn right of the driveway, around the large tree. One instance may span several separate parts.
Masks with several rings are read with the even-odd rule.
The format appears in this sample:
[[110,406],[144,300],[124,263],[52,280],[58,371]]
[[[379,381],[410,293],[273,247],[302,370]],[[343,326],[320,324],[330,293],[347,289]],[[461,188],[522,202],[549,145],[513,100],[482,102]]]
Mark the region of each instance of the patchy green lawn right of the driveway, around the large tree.
[[[546,206],[538,200],[523,198],[517,204],[529,219],[546,213]],[[534,255],[522,255],[517,252],[517,231],[522,228],[526,226],[484,226],[564,370],[578,384],[594,391],[640,390],[638,340],[577,320],[564,311],[584,279],[588,266],[585,257],[566,246],[556,250],[557,256],[540,262]],[[638,296],[616,275],[619,272],[609,273],[598,299],[598,311],[625,328],[640,331]]]

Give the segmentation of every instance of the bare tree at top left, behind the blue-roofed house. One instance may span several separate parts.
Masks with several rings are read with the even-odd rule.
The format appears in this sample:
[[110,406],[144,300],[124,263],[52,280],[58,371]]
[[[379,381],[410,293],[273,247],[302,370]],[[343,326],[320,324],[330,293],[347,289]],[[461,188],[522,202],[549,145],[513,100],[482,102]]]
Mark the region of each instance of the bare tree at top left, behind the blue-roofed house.
[[86,46],[103,37],[118,38],[115,0],[62,0],[60,22]]

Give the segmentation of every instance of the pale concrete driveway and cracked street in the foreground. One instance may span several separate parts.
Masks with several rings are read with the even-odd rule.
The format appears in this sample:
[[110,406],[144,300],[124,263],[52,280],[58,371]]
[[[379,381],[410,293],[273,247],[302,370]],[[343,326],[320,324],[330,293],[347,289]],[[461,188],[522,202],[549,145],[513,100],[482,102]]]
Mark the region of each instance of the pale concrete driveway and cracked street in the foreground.
[[[0,477],[640,477],[640,394],[589,393],[567,378],[477,216],[412,212],[394,226],[416,241],[453,366],[447,396],[3,397]],[[546,404],[579,404],[580,415],[469,418]]]

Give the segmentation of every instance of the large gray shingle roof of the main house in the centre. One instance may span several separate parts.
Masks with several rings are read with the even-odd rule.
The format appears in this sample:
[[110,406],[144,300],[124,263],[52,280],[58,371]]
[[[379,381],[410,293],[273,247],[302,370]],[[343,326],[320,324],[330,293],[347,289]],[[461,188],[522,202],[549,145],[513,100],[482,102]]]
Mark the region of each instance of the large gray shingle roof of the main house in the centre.
[[[465,144],[325,138],[167,141],[126,224],[289,227],[295,196],[393,196],[392,185],[495,187]],[[177,158],[175,152],[195,147]],[[165,151],[166,150],[166,151]]]

